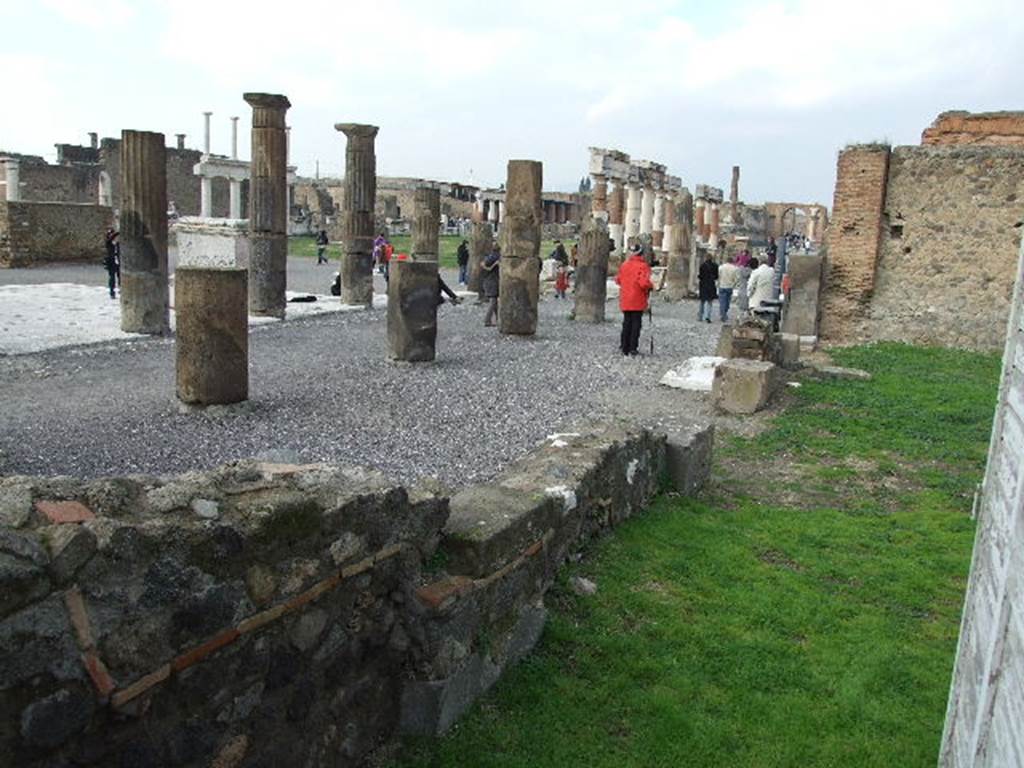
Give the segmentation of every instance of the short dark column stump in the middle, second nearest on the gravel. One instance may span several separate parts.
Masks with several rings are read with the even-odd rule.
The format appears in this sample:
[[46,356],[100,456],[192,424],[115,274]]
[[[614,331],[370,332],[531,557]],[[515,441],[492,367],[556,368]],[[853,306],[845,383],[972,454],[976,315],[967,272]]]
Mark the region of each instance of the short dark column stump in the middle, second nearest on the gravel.
[[427,362],[437,342],[437,262],[392,261],[387,286],[391,359]]

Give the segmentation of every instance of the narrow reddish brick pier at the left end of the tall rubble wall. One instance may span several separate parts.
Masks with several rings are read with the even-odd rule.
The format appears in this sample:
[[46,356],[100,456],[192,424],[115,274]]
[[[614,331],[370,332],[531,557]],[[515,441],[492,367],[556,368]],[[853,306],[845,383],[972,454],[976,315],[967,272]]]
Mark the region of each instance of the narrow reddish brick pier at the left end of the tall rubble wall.
[[824,338],[856,336],[867,309],[874,290],[888,171],[888,146],[854,145],[839,155],[827,234],[827,290],[821,319]]

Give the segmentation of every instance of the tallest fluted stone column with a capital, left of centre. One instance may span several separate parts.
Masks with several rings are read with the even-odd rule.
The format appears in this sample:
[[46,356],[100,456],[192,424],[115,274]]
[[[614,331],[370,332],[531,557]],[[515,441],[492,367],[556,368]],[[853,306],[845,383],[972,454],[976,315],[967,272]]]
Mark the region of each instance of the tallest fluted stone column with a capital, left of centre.
[[285,316],[288,285],[286,96],[246,93],[253,108],[249,165],[249,313]]

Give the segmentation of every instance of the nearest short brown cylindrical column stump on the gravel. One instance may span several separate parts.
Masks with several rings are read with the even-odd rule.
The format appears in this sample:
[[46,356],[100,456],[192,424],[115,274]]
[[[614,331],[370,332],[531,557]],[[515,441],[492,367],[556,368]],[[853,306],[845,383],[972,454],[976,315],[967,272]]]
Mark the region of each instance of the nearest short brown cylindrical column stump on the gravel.
[[174,273],[177,394],[219,406],[249,397],[245,269],[179,266]]

